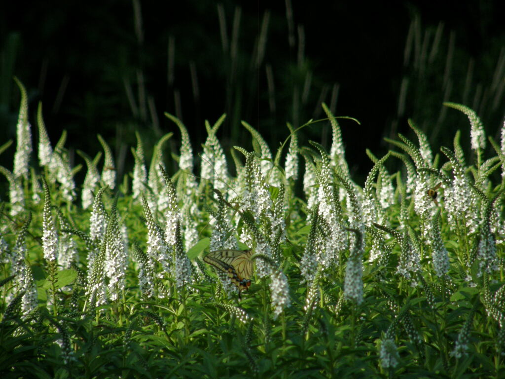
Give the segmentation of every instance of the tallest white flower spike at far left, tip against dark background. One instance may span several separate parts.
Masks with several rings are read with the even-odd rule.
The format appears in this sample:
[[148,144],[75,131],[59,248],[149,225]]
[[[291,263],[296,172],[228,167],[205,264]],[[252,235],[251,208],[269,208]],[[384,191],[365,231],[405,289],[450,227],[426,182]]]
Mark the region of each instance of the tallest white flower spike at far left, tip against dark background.
[[28,122],[28,95],[26,89],[18,80],[14,78],[21,91],[21,105],[19,107],[18,124],[16,125],[17,147],[14,154],[14,177],[23,176],[28,179],[28,168],[30,155],[33,150],[31,140],[31,126]]

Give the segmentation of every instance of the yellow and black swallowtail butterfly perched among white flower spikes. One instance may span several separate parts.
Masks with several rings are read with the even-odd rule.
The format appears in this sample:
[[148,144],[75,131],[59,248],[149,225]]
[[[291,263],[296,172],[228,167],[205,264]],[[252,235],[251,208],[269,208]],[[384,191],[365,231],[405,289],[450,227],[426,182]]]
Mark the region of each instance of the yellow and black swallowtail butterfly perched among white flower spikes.
[[238,296],[251,285],[254,265],[251,261],[252,249],[234,250],[223,249],[211,251],[204,257],[204,262],[216,267],[228,275],[231,282],[238,288]]

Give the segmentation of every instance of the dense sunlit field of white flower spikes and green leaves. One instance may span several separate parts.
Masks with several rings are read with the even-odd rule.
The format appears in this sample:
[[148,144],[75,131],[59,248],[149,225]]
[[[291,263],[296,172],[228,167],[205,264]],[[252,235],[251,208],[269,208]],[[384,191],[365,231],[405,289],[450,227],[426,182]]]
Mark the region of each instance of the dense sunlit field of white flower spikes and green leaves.
[[505,376],[505,125],[497,143],[445,103],[469,118],[471,156],[460,132],[434,152],[410,121],[418,140],[367,151],[361,187],[324,104],[329,152],[298,144],[321,120],[288,125],[275,155],[243,122],[253,150],[227,155],[223,116],[195,154],[166,114],[176,127],[148,167],[137,134],[133,171],[117,178],[99,135],[103,153],[71,167],[40,106],[34,149],[18,85],[13,170],[0,167],[2,377]]

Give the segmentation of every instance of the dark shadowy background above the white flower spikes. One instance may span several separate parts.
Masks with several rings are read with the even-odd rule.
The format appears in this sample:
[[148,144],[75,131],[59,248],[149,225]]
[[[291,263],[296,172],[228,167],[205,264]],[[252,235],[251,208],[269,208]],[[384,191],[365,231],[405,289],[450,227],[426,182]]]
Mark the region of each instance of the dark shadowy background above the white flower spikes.
[[[414,139],[408,118],[430,136],[434,151],[450,146],[457,129],[462,129],[462,142],[468,147],[466,116],[442,107],[443,101],[474,108],[488,135],[497,136],[505,112],[501,4],[489,0],[4,4],[0,128],[5,132],[0,144],[15,139],[19,90],[13,75],[29,93],[34,143],[38,140],[34,115],[41,101],[53,145],[63,129],[69,132],[66,147],[74,164],[82,163],[74,155],[76,149],[90,155],[101,150],[96,139],[100,133],[123,172],[133,164],[129,147],[136,144],[134,130],[141,131],[147,154],[161,135],[174,131],[170,147],[178,152],[179,132],[164,117],[165,111],[185,123],[195,153],[205,141],[204,120],[212,124],[225,112],[228,117],[218,137],[226,151],[233,145],[252,149],[250,135],[240,125],[245,120],[275,153],[288,136],[286,122],[299,126],[323,118],[323,100],[335,115],[361,122],[341,120],[340,125],[352,174],[363,182],[371,167],[365,149],[384,154],[390,146],[382,138],[397,132]],[[292,10],[291,29],[287,8]],[[218,9],[226,23],[227,44],[222,41]],[[257,63],[255,46],[266,11],[265,53]],[[437,28],[439,44],[433,48]],[[274,103],[268,70],[275,86]],[[302,144],[314,139],[329,149],[331,129],[327,122],[318,123],[300,130],[300,138]],[[14,149],[15,144],[0,156],[0,163],[9,169]],[[170,161],[169,153],[166,158]],[[173,162],[168,163],[175,169]]]

